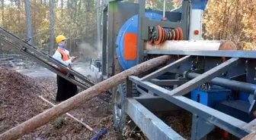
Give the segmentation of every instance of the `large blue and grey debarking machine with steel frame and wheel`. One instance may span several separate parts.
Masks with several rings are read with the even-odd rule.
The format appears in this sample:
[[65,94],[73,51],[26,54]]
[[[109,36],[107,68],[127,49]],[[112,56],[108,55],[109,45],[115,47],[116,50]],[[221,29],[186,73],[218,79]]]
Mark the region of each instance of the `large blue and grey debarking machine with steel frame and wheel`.
[[159,55],[172,60],[111,89],[114,127],[122,132],[129,116],[150,140],[184,139],[152,113],[183,108],[193,114],[192,140],[216,127],[237,138],[252,132],[256,52],[200,40],[206,0],[184,0],[173,11],[146,9],[146,2],[110,1],[104,8],[104,78]]

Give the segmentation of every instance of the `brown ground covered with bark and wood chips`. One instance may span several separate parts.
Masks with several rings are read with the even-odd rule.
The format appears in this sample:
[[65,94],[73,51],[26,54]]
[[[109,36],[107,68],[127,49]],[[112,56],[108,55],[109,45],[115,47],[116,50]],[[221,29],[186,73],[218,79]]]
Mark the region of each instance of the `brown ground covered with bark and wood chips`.
[[[14,70],[8,70],[0,67],[0,134],[31,117],[36,116],[51,107],[44,102],[38,95],[43,96],[53,104],[57,104],[56,97],[56,77],[35,77],[30,78]],[[81,92],[82,89],[79,89]],[[110,95],[101,95],[91,101],[81,104],[79,107],[71,110],[69,114],[87,123],[96,130],[107,128],[108,133],[101,139],[146,139],[139,129],[127,127],[124,136],[117,135],[112,127],[112,104]],[[176,132],[186,139],[190,139],[192,116],[184,110],[171,111],[168,115],[157,115],[165,123],[171,126]],[[129,122],[129,120],[127,120]],[[94,134],[85,126],[77,123],[75,120],[62,115],[56,120],[47,123],[40,128],[35,129],[20,139],[29,140],[79,140],[90,139]],[[214,131],[209,137],[210,140],[224,140],[219,133]],[[229,137],[229,140],[238,138]]]

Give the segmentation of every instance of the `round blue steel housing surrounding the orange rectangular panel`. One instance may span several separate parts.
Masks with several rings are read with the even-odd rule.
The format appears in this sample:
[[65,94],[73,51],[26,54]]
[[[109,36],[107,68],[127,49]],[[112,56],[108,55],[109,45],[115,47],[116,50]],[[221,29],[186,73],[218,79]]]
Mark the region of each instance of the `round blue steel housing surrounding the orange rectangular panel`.
[[[161,14],[156,14],[153,12],[146,12],[145,16],[149,17],[149,20],[156,20],[156,21],[162,20]],[[127,70],[130,67],[133,67],[136,65],[136,59],[127,61],[125,58],[123,58],[124,35],[126,33],[136,33],[136,35],[138,36],[138,14],[134,15],[129,20],[126,20],[126,22],[120,28],[120,31],[117,35],[116,53],[117,53],[118,61],[120,62],[120,65],[123,68],[123,70]]]

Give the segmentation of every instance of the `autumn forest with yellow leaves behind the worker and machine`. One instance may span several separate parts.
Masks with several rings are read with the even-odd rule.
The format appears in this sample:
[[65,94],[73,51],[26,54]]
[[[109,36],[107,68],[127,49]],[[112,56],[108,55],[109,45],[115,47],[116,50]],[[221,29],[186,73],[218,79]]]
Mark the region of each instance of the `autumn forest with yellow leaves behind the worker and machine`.
[[[102,10],[107,0],[1,1],[1,26],[21,39],[30,39],[30,44],[47,54],[53,54],[59,34],[69,38],[69,51],[85,56],[101,51]],[[155,0],[154,9],[162,10],[163,1]],[[171,11],[182,1],[165,2],[165,10]],[[203,39],[232,40],[241,50],[255,50],[255,24],[256,0],[209,0],[203,11]],[[12,52],[0,46],[0,54]]]

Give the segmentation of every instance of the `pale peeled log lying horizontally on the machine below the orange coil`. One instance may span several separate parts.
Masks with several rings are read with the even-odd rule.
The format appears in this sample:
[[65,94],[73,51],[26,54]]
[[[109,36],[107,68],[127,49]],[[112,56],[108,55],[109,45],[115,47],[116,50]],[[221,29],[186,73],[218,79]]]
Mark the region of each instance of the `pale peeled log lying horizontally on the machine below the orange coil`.
[[218,51],[218,50],[237,50],[236,45],[231,41],[165,41],[159,45],[146,43],[144,50],[168,50],[168,51]]

